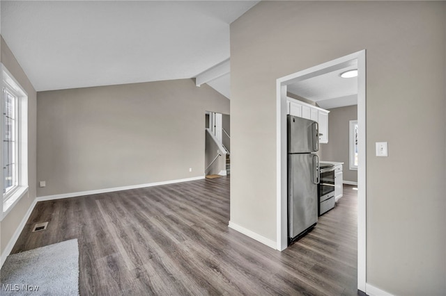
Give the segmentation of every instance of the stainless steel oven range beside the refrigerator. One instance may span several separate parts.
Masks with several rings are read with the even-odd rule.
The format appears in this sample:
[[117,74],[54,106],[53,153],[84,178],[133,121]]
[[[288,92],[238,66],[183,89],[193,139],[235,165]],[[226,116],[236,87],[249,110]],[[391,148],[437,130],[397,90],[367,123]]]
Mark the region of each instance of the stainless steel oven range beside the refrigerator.
[[322,215],[334,208],[334,165],[321,163],[319,167],[318,215]]

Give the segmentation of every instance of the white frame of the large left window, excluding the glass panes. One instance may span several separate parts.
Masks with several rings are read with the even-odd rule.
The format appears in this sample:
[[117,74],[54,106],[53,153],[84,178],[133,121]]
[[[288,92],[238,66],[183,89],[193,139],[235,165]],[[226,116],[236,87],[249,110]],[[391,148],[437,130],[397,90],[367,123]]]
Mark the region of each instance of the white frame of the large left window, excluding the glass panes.
[[[6,215],[13,209],[15,204],[20,201],[22,197],[28,194],[28,94],[24,91],[20,83],[15,80],[14,76],[10,74],[8,69],[1,64],[1,106],[0,112],[3,116],[3,88],[6,88],[8,92],[17,97],[17,111],[16,111],[16,159],[15,159],[15,167],[17,170],[17,185],[8,190],[8,192],[3,193],[5,188],[4,182],[4,156],[3,156],[3,145],[1,145],[1,202],[0,202],[0,221],[3,220]],[[1,129],[1,137],[3,138],[3,119],[2,129]]]

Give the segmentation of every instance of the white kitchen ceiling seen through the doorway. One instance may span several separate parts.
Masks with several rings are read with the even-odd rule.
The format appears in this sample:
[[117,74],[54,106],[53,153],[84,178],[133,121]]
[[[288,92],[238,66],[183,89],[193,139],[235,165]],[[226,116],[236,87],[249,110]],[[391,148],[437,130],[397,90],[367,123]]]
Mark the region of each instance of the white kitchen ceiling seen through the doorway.
[[339,75],[349,69],[356,69],[357,65],[350,65],[327,74],[298,81],[288,85],[288,92],[315,101],[321,108],[330,109],[357,104],[357,77],[344,79]]

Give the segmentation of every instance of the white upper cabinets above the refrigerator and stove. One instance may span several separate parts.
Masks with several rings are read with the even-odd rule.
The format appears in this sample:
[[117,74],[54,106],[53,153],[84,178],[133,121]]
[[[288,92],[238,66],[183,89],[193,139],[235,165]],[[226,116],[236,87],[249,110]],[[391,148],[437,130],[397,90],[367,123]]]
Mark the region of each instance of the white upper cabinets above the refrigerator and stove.
[[287,98],[288,114],[314,120],[319,124],[319,142],[328,143],[328,113],[330,111],[319,108],[303,101]]

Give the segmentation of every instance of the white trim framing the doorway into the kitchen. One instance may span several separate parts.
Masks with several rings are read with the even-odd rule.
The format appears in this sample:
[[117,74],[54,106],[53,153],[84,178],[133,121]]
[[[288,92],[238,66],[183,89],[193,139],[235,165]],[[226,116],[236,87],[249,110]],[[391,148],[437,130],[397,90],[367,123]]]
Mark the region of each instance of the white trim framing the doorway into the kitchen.
[[277,79],[277,249],[288,246],[287,234],[287,158],[286,97],[288,85],[328,74],[348,66],[357,66],[357,288],[366,283],[366,52],[348,56]]

